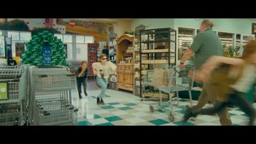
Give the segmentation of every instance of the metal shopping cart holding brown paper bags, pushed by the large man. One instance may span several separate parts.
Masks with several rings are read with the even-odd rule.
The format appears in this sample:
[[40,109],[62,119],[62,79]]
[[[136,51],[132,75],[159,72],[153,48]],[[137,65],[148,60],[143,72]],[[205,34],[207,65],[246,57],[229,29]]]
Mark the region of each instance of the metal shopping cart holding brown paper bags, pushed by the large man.
[[[151,73],[154,73],[154,70],[149,70]],[[194,67],[185,67],[180,69],[179,67],[173,66],[170,68],[166,68],[166,77],[163,77],[164,81],[161,82],[162,85],[159,86],[152,82],[152,79],[156,79],[154,77],[148,77],[148,75],[144,75],[143,77],[143,86],[154,86],[159,90],[159,102],[154,102],[149,104],[150,112],[154,112],[154,108],[161,109],[162,111],[168,112],[170,122],[174,121],[174,116],[172,115],[173,106],[179,105],[179,92],[188,91],[189,92],[189,100],[192,106],[192,96],[191,90],[193,88],[193,82],[195,77],[195,68]],[[177,93],[177,104],[173,103],[172,95]],[[169,100],[168,102],[163,102],[163,93],[168,93]]]

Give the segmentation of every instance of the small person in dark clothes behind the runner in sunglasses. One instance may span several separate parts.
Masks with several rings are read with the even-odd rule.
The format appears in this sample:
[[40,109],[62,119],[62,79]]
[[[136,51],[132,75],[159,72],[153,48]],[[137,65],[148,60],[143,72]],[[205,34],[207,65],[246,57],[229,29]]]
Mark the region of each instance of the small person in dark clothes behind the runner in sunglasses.
[[81,61],[81,67],[79,67],[77,69],[77,73],[76,73],[77,90],[78,90],[79,99],[82,99],[82,96],[81,96],[81,93],[82,93],[81,85],[82,84],[84,86],[84,95],[87,96],[87,93],[86,93],[87,72],[88,72],[88,68],[87,68],[86,61]]

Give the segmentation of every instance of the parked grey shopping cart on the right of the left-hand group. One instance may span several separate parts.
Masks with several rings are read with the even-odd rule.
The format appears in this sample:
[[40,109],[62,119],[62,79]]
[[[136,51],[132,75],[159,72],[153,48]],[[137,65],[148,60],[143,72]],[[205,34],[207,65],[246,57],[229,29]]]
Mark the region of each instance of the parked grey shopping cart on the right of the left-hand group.
[[29,75],[29,124],[74,125],[78,109],[72,105],[71,90],[76,86],[76,79],[70,69],[31,66]]

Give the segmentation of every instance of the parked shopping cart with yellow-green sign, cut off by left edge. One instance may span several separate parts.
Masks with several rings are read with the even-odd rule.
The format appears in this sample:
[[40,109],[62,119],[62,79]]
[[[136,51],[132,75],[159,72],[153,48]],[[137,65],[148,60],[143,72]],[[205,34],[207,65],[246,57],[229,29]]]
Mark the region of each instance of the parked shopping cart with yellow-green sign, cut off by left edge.
[[0,66],[0,125],[25,125],[28,65]]

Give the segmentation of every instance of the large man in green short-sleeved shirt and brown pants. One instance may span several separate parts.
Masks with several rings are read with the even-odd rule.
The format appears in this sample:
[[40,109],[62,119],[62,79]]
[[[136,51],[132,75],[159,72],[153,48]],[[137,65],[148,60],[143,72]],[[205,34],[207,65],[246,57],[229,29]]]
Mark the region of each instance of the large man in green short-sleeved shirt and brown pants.
[[[200,67],[208,60],[211,56],[223,56],[223,49],[220,42],[220,38],[214,31],[212,31],[212,22],[205,19],[200,26],[200,33],[195,36],[193,44],[184,53],[182,59],[180,60],[180,68],[184,68],[184,62],[188,60],[191,55],[195,52],[195,68],[199,70]],[[196,78],[196,76],[195,76]],[[202,109],[207,102],[211,101],[215,105],[216,97],[214,92],[211,92],[211,88],[204,83],[202,92],[198,99],[198,104],[193,106],[193,111]],[[189,115],[191,111],[186,111],[186,115]],[[185,116],[186,116],[185,115]],[[221,125],[232,125],[230,115],[228,114],[228,109],[225,108],[223,111],[218,113],[220,117]]]

